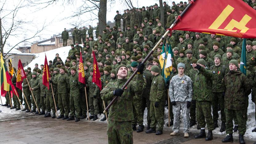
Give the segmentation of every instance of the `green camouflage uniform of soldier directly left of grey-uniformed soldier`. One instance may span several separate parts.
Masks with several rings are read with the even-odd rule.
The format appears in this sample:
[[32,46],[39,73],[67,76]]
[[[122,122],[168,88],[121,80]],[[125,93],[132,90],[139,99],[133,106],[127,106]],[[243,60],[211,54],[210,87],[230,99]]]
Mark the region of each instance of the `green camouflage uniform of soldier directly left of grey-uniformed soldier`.
[[[163,130],[164,126],[164,102],[165,98],[163,97],[165,90],[165,82],[163,77],[158,74],[154,76],[151,89],[150,89],[150,119],[151,124],[150,128],[155,129],[156,124],[158,123],[158,130]],[[155,107],[155,102],[159,102],[159,106]]]

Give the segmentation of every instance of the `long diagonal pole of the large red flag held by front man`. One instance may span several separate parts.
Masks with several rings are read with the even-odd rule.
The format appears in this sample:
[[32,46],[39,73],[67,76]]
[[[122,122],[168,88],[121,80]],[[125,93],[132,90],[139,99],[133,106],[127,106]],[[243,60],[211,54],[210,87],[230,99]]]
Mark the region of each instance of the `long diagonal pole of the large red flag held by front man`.
[[[194,0],[193,2],[195,2],[196,0]],[[192,6],[193,2],[191,2],[186,8],[185,10],[180,14],[180,17],[182,17],[186,11],[190,8],[190,6]],[[175,24],[179,21],[179,18],[177,18],[174,23],[170,26],[170,28],[165,32],[165,34],[162,36],[162,38],[157,42],[157,44],[154,46],[154,48],[149,52],[149,54],[146,56],[146,58],[142,61],[142,63],[144,64],[148,58],[151,56],[151,54],[153,54],[154,50],[156,50],[156,48],[160,45],[161,42],[163,42],[163,40],[167,37],[167,34],[170,33],[170,29],[172,29]],[[126,83],[124,84],[124,86],[122,87],[122,90],[124,90],[124,88],[130,83],[130,81],[134,78],[134,76],[137,74],[138,69],[136,69],[134,71],[134,73],[130,76],[130,78],[126,81]],[[103,113],[105,114],[108,109],[110,108],[110,106],[113,105],[113,103],[117,100],[118,96],[115,96],[113,98],[113,100],[109,103],[109,105],[106,107],[106,109],[103,111]]]

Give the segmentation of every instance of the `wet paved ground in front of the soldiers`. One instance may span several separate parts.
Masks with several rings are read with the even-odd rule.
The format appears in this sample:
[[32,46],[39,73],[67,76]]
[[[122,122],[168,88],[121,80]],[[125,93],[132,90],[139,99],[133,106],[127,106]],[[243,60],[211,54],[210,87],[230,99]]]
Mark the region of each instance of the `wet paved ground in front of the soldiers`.
[[[66,121],[62,119],[43,118],[34,116],[22,119],[13,119],[0,122],[0,143],[1,144],[46,144],[46,143],[108,143],[107,124],[102,122],[81,120],[80,122]],[[144,129],[146,130],[146,128]],[[167,130],[167,131],[166,131]],[[214,140],[205,141],[194,139],[196,132],[190,132],[189,138],[183,138],[181,133],[178,136],[170,136],[171,128],[165,128],[162,135],[146,134],[145,131],[137,133],[134,131],[134,144],[144,143],[221,143],[222,137],[214,135]],[[234,138],[234,143],[238,143]],[[254,141],[246,140],[247,143]]]

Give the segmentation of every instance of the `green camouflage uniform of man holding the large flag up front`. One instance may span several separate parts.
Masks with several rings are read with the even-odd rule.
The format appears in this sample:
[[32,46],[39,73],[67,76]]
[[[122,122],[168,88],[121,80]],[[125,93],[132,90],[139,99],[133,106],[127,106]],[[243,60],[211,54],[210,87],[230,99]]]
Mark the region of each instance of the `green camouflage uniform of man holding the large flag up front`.
[[[117,82],[109,82],[101,91],[101,98],[104,101],[110,101],[115,96],[113,91],[122,88],[127,79],[118,79]],[[126,86],[122,96],[109,109],[108,117],[108,142],[115,143],[133,143],[132,123],[134,119],[132,112],[132,97],[135,92],[142,89],[142,74],[138,74],[137,81],[132,81]]]

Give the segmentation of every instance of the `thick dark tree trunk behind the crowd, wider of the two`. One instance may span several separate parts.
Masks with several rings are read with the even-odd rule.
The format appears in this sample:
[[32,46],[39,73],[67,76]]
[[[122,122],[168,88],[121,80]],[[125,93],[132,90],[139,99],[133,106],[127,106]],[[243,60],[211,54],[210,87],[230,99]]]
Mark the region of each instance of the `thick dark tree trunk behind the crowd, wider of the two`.
[[98,12],[99,18],[99,34],[102,34],[102,31],[106,28],[107,20],[107,0],[100,0],[100,7]]

